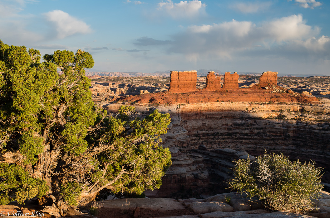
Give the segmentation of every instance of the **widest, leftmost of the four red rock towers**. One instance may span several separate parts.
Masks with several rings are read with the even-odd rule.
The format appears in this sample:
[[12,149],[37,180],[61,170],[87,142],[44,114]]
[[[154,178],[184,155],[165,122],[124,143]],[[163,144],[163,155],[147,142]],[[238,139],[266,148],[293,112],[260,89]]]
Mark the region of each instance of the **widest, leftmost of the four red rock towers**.
[[169,91],[173,93],[186,93],[196,91],[197,71],[171,71]]

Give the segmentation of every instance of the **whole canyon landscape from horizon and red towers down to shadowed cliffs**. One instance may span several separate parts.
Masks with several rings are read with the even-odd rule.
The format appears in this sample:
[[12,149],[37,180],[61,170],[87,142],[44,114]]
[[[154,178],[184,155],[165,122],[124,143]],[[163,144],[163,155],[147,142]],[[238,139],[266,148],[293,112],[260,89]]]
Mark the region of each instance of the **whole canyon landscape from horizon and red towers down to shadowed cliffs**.
[[[291,160],[315,161],[324,168],[322,182],[329,191],[329,77],[283,78],[264,72],[261,77],[239,76],[238,87],[236,78],[231,79],[235,89],[225,89],[221,85],[226,75],[186,73],[192,76],[187,79],[178,72],[172,83],[164,77],[147,77],[144,82],[122,77],[106,86],[102,84],[109,78],[92,81],[93,99],[99,102],[108,96],[102,105],[109,113],[115,114],[120,105],[133,105],[145,115],[156,109],[171,115],[160,145],[171,151],[172,166],[159,190],[145,192],[148,197],[206,198],[228,192],[225,181],[231,177],[233,161],[265,150]],[[187,79],[188,85],[174,86],[179,78]],[[117,90],[120,87],[124,92]],[[182,93],[182,87],[190,91]],[[107,90],[118,95],[104,95]]]

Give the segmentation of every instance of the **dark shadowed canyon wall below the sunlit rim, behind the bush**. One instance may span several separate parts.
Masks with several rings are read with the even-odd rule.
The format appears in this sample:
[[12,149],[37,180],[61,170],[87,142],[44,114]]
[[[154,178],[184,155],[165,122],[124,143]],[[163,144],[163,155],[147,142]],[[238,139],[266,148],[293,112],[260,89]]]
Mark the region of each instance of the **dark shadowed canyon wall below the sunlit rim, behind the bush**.
[[227,192],[233,160],[265,149],[291,160],[316,161],[326,167],[322,181],[330,181],[329,123],[267,120],[240,111],[181,113],[171,119],[163,146],[172,146],[173,163],[154,196],[200,198]]

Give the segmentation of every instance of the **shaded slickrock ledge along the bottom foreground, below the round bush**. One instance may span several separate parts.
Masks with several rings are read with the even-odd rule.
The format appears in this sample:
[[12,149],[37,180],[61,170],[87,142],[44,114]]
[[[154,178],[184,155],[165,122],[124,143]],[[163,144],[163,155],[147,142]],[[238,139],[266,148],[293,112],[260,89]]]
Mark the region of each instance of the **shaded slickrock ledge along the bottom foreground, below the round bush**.
[[[322,191],[321,198],[324,199],[330,194]],[[327,198],[327,200],[330,200]],[[317,201],[317,200],[316,200]],[[318,202],[318,201],[317,201]],[[270,212],[263,208],[263,205],[256,198],[248,198],[245,194],[224,193],[211,196],[206,199],[117,199],[103,201],[99,218],[130,218],[134,211],[139,211],[143,218],[221,218],[221,217],[250,217],[250,218],[313,218],[324,216],[330,212],[329,208],[318,207],[312,216],[289,213],[283,211]],[[245,206],[238,206],[245,205]],[[246,206],[247,205],[247,206]],[[107,213],[108,211],[108,213]],[[111,212],[110,212],[111,211]],[[317,211],[317,212],[316,212]]]

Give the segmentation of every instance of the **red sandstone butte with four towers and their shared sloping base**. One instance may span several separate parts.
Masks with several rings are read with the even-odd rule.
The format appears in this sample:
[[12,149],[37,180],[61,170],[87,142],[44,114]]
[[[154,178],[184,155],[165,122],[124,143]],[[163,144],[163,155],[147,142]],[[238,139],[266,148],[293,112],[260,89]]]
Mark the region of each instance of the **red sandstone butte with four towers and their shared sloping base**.
[[[212,75],[213,74],[213,75]],[[159,92],[144,95],[134,95],[121,98],[123,101],[139,104],[172,104],[219,101],[273,101],[273,102],[300,102],[312,103],[318,101],[314,96],[306,96],[277,86],[277,72],[267,71],[262,74],[259,84],[249,88],[238,87],[239,75],[235,72],[225,73],[223,88],[220,77],[214,72],[207,76],[206,88],[196,89],[197,72],[171,71],[170,88],[168,92]]]

